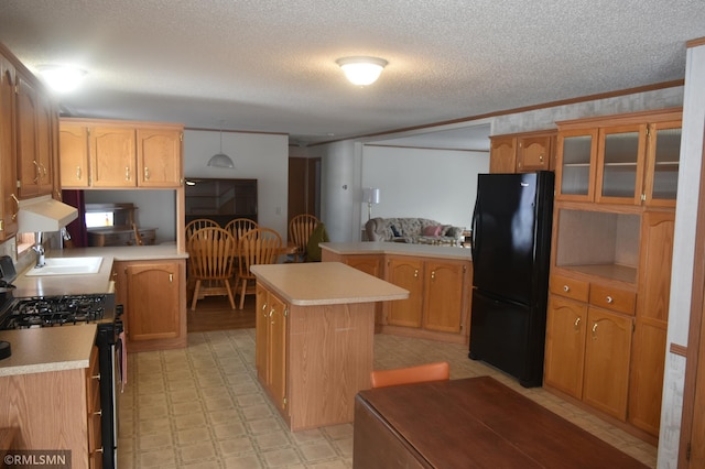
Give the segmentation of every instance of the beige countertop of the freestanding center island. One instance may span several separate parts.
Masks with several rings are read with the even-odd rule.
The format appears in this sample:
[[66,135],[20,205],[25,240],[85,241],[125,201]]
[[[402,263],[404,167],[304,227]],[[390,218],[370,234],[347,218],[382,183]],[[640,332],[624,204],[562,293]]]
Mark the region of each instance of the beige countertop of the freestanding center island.
[[409,292],[339,262],[252,265],[268,288],[292,305],[334,305],[405,299]]

